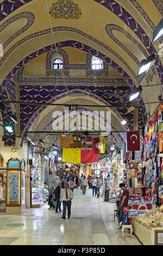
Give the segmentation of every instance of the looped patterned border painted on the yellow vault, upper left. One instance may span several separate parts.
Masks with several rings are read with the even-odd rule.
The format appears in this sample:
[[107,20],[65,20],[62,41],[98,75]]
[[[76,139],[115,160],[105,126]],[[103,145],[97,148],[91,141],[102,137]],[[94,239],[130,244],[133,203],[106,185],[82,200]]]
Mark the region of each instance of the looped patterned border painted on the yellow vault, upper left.
[[30,26],[33,25],[35,21],[35,16],[32,13],[26,12],[26,13],[21,13],[17,14],[14,17],[11,17],[9,20],[5,21],[1,26],[0,26],[0,33],[5,29],[7,26],[9,26],[12,22],[20,20],[22,18],[27,19],[27,24],[22,27],[19,31],[17,31],[15,34],[11,35],[10,38],[4,42],[3,44],[3,49],[7,47],[12,40],[14,40],[18,35],[22,34],[25,32]]

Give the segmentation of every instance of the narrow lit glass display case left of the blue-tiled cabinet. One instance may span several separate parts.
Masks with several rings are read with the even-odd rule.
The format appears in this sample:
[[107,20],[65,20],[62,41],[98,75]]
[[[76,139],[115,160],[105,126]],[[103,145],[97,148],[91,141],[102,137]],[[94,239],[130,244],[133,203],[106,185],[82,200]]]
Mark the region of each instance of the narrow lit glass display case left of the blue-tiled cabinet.
[[0,212],[6,209],[7,172],[0,170]]

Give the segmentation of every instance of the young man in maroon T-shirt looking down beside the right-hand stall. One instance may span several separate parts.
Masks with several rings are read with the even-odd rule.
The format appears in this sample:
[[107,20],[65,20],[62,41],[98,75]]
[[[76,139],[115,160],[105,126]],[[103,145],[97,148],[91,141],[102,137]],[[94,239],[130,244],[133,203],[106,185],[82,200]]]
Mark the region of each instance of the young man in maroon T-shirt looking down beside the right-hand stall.
[[123,224],[123,208],[128,207],[129,191],[126,188],[124,183],[121,183],[119,187],[123,191],[121,201],[120,201],[120,207],[118,208],[117,214],[116,214],[118,218],[118,223],[119,223],[117,228],[120,229],[122,228],[122,224]]

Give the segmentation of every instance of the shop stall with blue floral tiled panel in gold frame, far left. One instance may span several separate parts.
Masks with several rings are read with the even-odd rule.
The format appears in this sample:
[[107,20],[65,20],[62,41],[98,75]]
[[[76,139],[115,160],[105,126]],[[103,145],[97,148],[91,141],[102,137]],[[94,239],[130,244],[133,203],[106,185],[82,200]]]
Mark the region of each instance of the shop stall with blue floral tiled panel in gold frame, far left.
[[10,159],[7,167],[0,167],[0,212],[21,214],[26,205],[25,162]]

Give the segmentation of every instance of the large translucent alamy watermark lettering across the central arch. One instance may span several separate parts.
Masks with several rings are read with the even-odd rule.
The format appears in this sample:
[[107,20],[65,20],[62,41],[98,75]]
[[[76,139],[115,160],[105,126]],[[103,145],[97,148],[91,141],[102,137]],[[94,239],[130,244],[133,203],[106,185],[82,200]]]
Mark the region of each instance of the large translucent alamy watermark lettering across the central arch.
[[76,111],[65,107],[65,112],[54,111],[54,131],[111,131],[110,111]]

